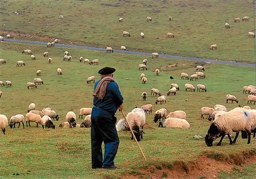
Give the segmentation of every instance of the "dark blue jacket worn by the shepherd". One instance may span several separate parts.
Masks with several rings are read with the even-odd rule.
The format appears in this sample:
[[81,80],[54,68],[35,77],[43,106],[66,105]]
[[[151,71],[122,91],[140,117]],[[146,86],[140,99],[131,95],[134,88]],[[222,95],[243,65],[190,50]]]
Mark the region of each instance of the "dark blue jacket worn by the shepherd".
[[[99,80],[100,81],[100,80]],[[94,91],[99,83],[95,82]],[[101,109],[107,110],[112,114],[115,114],[117,108],[123,103],[123,97],[119,91],[118,85],[115,82],[110,82],[106,87],[106,94],[103,100],[99,100],[97,97],[93,99],[93,105]]]

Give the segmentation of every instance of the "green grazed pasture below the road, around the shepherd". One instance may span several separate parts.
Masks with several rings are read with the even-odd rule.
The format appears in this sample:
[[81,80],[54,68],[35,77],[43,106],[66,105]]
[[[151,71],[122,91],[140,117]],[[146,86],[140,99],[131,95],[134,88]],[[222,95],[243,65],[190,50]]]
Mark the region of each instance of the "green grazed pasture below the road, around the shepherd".
[[[8,119],[15,114],[26,115],[26,110],[31,102],[36,104],[36,109],[45,107],[53,108],[60,116],[55,121],[55,130],[32,127],[7,129],[7,135],[0,135],[0,177],[13,177],[14,172],[22,175],[16,177],[26,178],[70,178],[70,177],[117,177],[122,173],[139,173],[139,168],[147,166],[150,162],[160,162],[164,166],[172,166],[176,160],[188,162],[195,160],[204,152],[239,153],[244,150],[255,149],[255,138],[247,145],[246,140],[238,139],[236,145],[229,145],[224,139],[222,146],[207,147],[204,140],[194,140],[194,135],[205,136],[209,127],[207,119],[200,120],[200,108],[224,104],[228,109],[237,107],[237,103],[225,103],[225,95],[236,95],[240,105],[247,104],[247,95],[243,95],[243,86],[255,84],[252,78],[254,69],[242,66],[228,66],[210,64],[205,66],[205,79],[192,81],[197,85],[205,84],[207,93],[185,92],[184,84],[187,80],[180,79],[180,73],[189,75],[195,73],[194,62],[158,58],[148,60],[148,70],[144,71],[148,82],[141,84],[138,64],[145,58],[137,55],[120,53],[105,53],[89,50],[76,50],[66,48],[49,48],[31,44],[3,42],[1,58],[7,60],[0,65],[0,80],[11,80],[10,88],[0,87],[3,96],[0,101],[0,114],[7,115]],[[32,61],[30,56],[21,52],[31,49],[36,56]],[[47,57],[42,53],[49,50],[53,61],[47,62]],[[63,61],[63,52],[68,50],[73,56],[72,61]],[[99,65],[86,65],[78,61],[83,56],[89,59],[99,59]],[[16,67],[17,60],[24,60],[26,66]],[[177,68],[160,68],[161,66],[179,63]],[[96,76],[98,70],[104,66],[116,68],[115,78],[119,82],[121,93],[124,97],[124,113],[127,114],[135,106],[153,104],[153,114],[159,108],[168,111],[184,110],[190,129],[158,128],[153,122],[154,115],[146,115],[144,140],[140,142],[147,163],[138,151],[134,141],[131,141],[130,132],[119,132],[120,146],[116,156],[116,165],[122,168],[116,171],[101,171],[91,169],[90,128],[59,128],[58,123],[65,121],[68,111],[72,110],[78,115],[79,108],[92,107],[93,86],[87,84],[89,76]],[[63,75],[56,75],[57,68],[61,68]],[[159,76],[155,69],[160,68]],[[41,70],[41,79],[44,84],[37,89],[27,89],[27,82],[36,78],[36,71]],[[172,75],[174,80],[170,81]],[[125,80],[129,78],[129,80]],[[158,88],[162,94],[168,92],[171,82],[178,83],[180,91],[176,96],[167,97],[166,104],[155,104],[157,97],[148,96],[144,102],[141,93],[150,94],[151,88]],[[190,83],[190,81],[189,81]],[[187,100],[187,101],[186,101]],[[251,105],[255,108],[255,105]],[[123,118],[118,112],[118,119]],[[80,123],[81,119],[78,120]],[[27,172],[30,170],[31,172]],[[29,174],[27,174],[29,173]]]

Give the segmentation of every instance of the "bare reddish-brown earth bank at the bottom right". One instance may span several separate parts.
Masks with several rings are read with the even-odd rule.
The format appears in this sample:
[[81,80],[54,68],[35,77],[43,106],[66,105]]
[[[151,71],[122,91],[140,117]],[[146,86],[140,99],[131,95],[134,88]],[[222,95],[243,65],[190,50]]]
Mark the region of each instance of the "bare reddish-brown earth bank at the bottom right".
[[241,153],[224,155],[221,153],[204,153],[191,162],[150,163],[140,169],[129,169],[118,178],[218,178],[221,171],[237,169],[256,163],[256,148]]

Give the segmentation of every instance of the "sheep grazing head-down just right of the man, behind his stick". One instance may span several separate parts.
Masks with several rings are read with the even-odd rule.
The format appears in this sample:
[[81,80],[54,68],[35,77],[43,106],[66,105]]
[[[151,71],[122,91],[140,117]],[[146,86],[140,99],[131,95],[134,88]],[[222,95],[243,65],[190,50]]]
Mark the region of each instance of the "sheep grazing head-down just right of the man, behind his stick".
[[[146,122],[144,110],[141,108],[134,108],[130,113],[127,114],[126,119],[127,122],[130,124],[137,141],[141,141],[141,139],[143,139],[144,133],[143,126]],[[133,135],[131,140],[133,140]]]

